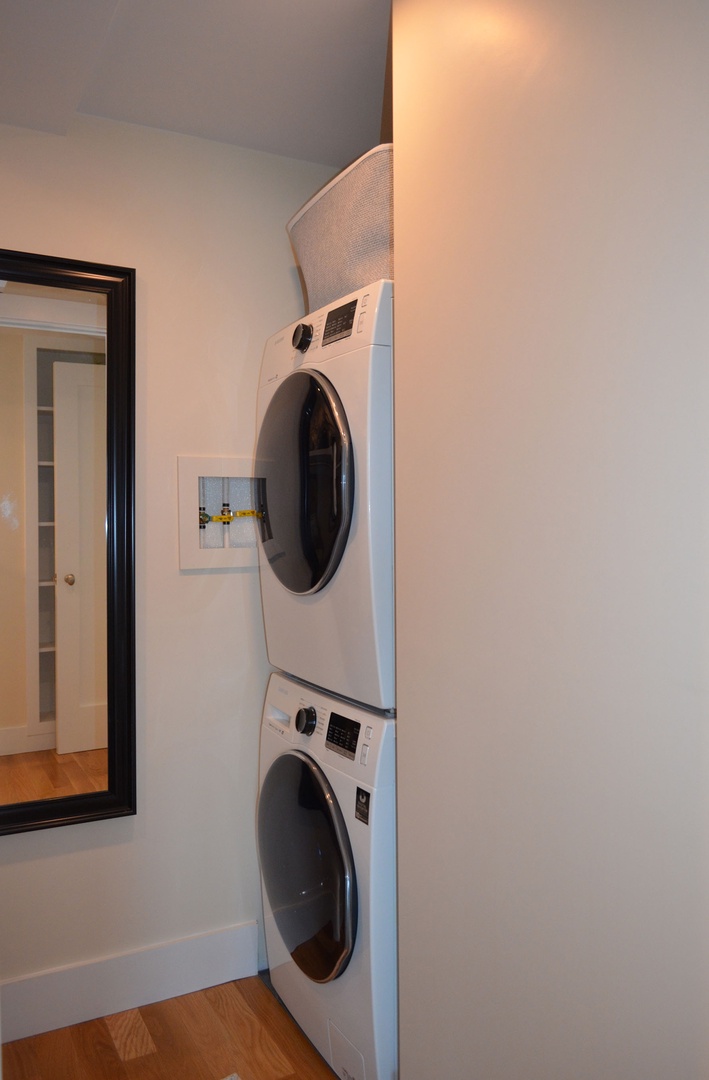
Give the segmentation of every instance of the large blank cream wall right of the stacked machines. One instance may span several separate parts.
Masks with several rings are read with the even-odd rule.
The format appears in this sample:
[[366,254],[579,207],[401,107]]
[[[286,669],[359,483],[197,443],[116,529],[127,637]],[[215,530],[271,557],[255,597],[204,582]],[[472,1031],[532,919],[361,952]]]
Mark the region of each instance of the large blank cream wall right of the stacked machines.
[[699,1080],[706,10],[393,6],[402,1080]]

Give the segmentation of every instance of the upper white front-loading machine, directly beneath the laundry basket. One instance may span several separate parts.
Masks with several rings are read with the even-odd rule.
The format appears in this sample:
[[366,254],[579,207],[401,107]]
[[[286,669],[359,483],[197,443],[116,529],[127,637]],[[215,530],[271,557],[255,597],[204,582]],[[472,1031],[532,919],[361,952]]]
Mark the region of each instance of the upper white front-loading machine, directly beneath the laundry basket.
[[257,406],[260,586],[275,667],[394,699],[392,283],[267,343]]

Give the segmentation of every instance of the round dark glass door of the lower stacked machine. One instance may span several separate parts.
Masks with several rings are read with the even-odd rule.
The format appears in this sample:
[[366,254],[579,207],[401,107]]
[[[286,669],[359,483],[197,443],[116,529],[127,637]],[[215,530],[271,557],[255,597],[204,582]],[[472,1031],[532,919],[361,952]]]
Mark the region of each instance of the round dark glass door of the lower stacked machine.
[[266,774],[258,799],[258,853],[289,953],[313,982],[331,982],[354,947],[354,862],[327,778],[299,751],[277,758]]

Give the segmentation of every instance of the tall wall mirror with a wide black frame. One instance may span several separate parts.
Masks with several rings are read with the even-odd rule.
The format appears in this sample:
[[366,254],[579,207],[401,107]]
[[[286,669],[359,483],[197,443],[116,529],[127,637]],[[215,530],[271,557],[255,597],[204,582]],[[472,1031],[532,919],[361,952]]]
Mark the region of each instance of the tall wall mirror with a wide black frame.
[[[43,303],[49,307],[42,308],[42,313],[38,315]],[[57,311],[61,312],[58,322]],[[94,336],[91,332],[93,325],[96,328]],[[0,489],[0,592],[4,593],[3,606],[6,606],[4,599],[15,586],[18,596],[21,589],[24,590],[23,609],[14,622],[12,617],[8,620],[5,638],[13,646],[14,637],[17,648],[22,643],[27,659],[24,688],[22,679],[15,679],[21,705],[10,716],[0,714],[0,834],[8,834],[124,816],[134,814],[136,809],[135,271],[125,267],[0,249],[0,335],[3,333],[6,338],[0,340],[0,402],[10,421],[5,415],[2,427],[10,431],[14,423],[12,414],[8,413],[8,403],[13,394],[5,392],[1,381],[5,377],[2,363],[6,354],[15,357],[14,367],[8,361],[8,372],[15,374],[8,374],[6,379],[9,384],[19,388],[15,395],[19,419],[14,426],[22,434],[18,436],[19,449],[8,441],[3,443],[0,435],[0,488],[3,488]],[[63,337],[64,334],[68,337]],[[96,346],[96,341],[105,342],[105,349]],[[59,391],[56,388],[64,386],[67,373],[78,370],[81,375],[89,368],[96,377],[94,389],[89,393],[95,414],[86,414],[89,419],[77,421],[71,408],[67,410],[64,404],[59,408],[56,396]],[[42,395],[52,393],[55,396],[46,404]],[[86,399],[85,389],[80,387],[75,396],[83,402]],[[64,403],[64,397],[61,400]],[[85,408],[83,405],[78,407]],[[84,428],[93,433],[93,449],[90,448],[89,453],[81,442],[83,436],[75,437],[76,432]],[[59,429],[68,435],[61,436]],[[71,453],[78,455],[73,459],[65,458],[61,448],[63,437],[71,444]],[[11,481],[2,478],[3,455],[14,455],[17,461],[21,458],[23,461],[23,475],[15,484],[19,489],[16,498],[12,474]],[[99,519],[99,527],[94,528],[91,549],[98,551],[98,555],[85,554],[89,544],[82,531],[83,524],[77,526],[80,532],[78,545],[84,559],[83,569],[78,575],[66,572],[67,568],[75,570],[73,564],[61,565],[59,519],[83,523],[88,512],[76,510],[71,501],[75,496],[65,495],[64,489],[63,509],[59,510],[56,480],[59,459],[64,475],[72,473],[72,460],[94,461],[86,468],[92,472],[99,491],[98,497],[92,495],[90,499],[85,494],[89,486],[83,480],[73,484],[79,491],[78,496],[75,491],[76,498],[91,503],[91,513]],[[19,465],[14,468],[17,472]],[[51,509],[44,511],[43,505]],[[17,534],[25,540],[21,542]],[[17,580],[21,566],[22,585]],[[86,584],[89,566],[92,568],[91,589]],[[83,610],[81,605],[88,603],[79,599],[81,595],[93,597],[90,609],[93,613],[90,618],[82,617],[83,622],[76,615],[78,610]],[[59,616],[59,607],[68,609],[68,617]],[[72,674],[73,669],[66,666],[65,657],[70,650],[62,643],[69,638],[64,630],[64,636],[58,637],[59,623],[62,626],[80,626],[76,639],[81,643],[84,659],[76,669],[79,674]],[[1,633],[0,626],[0,644]],[[8,677],[13,676],[17,666],[5,664]],[[59,667],[63,672],[61,676]],[[49,676],[48,670],[51,672]],[[77,753],[71,741],[75,738],[71,724],[64,719],[59,724],[59,713],[69,715],[67,702],[77,687],[86,684],[84,672],[94,670],[99,671],[99,675],[94,672],[94,681],[86,691],[89,698],[102,699],[91,705],[90,728],[94,741],[86,743],[85,751],[79,745]],[[0,698],[5,701],[12,699],[2,685]],[[83,702],[81,707],[86,712]],[[18,742],[17,732],[23,727],[22,720],[25,720],[23,708],[28,711],[25,727],[29,733],[26,741]],[[52,715],[54,710],[56,716]],[[22,777],[31,777],[35,764],[32,746],[37,745],[39,753],[46,755],[49,751],[45,747],[51,750],[52,739],[55,741],[53,758],[50,768],[43,768],[50,777],[50,791],[39,796],[32,784],[23,782]],[[68,747],[66,753],[61,752],[61,740],[64,747]],[[101,751],[97,752],[95,746],[102,747]],[[25,750],[29,755],[24,753]],[[88,770],[86,786],[69,778],[71,770],[76,773],[76,761],[82,752],[90,760],[98,754],[104,762],[102,772],[94,770],[93,778],[91,769]],[[19,761],[22,772],[13,771],[14,761]]]

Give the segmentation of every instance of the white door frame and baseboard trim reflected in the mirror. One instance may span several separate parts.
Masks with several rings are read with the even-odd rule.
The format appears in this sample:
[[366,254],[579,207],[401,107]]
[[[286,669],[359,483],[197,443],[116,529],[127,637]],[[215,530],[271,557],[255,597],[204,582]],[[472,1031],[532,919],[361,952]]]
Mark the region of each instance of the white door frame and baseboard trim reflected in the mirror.
[[106,352],[102,334],[31,330],[23,338],[25,376],[25,647],[26,723],[0,728],[0,754],[23,754],[50,750],[55,744],[53,719],[40,719],[39,699],[39,541],[38,541],[38,448],[37,448],[37,351]]

